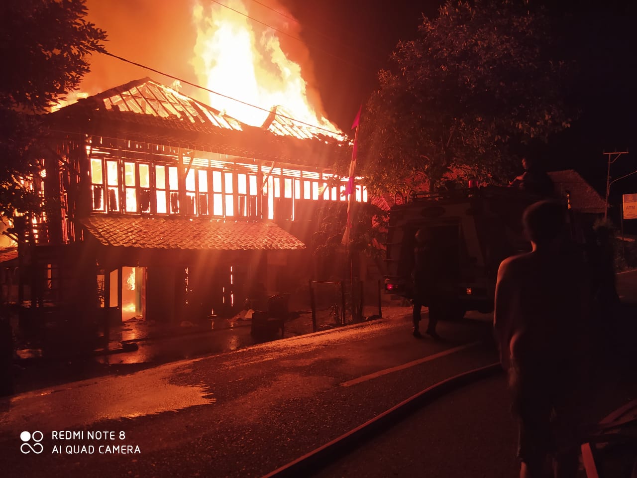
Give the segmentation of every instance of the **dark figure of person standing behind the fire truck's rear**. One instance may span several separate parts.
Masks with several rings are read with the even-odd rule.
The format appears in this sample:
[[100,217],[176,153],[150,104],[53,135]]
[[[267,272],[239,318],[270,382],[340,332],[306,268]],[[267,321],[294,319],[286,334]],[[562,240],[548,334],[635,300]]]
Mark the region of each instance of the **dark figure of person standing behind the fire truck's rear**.
[[[440,254],[433,250],[431,231],[419,229],[414,236],[416,245],[413,249],[413,336],[422,337],[420,334],[420,310],[424,303],[429,303],[436,289],[435,271],[438,270],[436,264]],[[426,334],[433,338],[440,338],[436,333],[437,318],[429,314],[429,324]]]

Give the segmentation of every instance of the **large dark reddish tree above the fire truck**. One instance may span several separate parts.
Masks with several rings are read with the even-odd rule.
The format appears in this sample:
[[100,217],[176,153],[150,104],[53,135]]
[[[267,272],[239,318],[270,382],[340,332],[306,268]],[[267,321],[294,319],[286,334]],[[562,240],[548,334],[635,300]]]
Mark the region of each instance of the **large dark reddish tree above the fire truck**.
[[503,180],[515,154],[569,126],[541,9],[448,0],[401,41],[361,124],[361,174],[375,192],[448,179]]

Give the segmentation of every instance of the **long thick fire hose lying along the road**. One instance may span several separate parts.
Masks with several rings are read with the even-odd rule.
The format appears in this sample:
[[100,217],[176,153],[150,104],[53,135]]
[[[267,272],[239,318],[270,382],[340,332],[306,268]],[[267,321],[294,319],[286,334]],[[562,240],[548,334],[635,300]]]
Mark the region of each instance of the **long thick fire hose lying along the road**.
[[501,372],[503,372],[502,367],[499,362],[496,362],[442,380],[410,396],[403,402],[398,403],[389,410],[385,410],[382,414],[373,417],[340,437],[334,438],[331,442],[264,475],[262,478],[309,476],[352,451],[361,445],[364,440],[369,440],[380,431],[389,428],[400,419],[440,398],[440,396]]

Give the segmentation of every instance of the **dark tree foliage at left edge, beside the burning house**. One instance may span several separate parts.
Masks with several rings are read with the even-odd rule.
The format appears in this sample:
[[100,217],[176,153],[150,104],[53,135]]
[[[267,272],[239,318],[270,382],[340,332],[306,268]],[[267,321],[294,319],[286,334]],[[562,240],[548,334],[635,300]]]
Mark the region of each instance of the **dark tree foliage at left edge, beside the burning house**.
[[4,0],[0,12],[0,214],[11,217],[42,206],[22,183],[38,169],[38,113],[78,87],[106,34],[85,20],[85,0]]

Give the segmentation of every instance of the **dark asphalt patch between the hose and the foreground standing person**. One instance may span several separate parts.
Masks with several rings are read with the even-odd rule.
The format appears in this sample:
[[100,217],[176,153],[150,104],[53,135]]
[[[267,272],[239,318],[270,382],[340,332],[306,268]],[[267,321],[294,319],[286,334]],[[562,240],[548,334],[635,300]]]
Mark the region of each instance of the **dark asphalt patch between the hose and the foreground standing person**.
[[515,477],[517,429],[508,409],[504,374],[480,380],[422,407],[313,477]]

